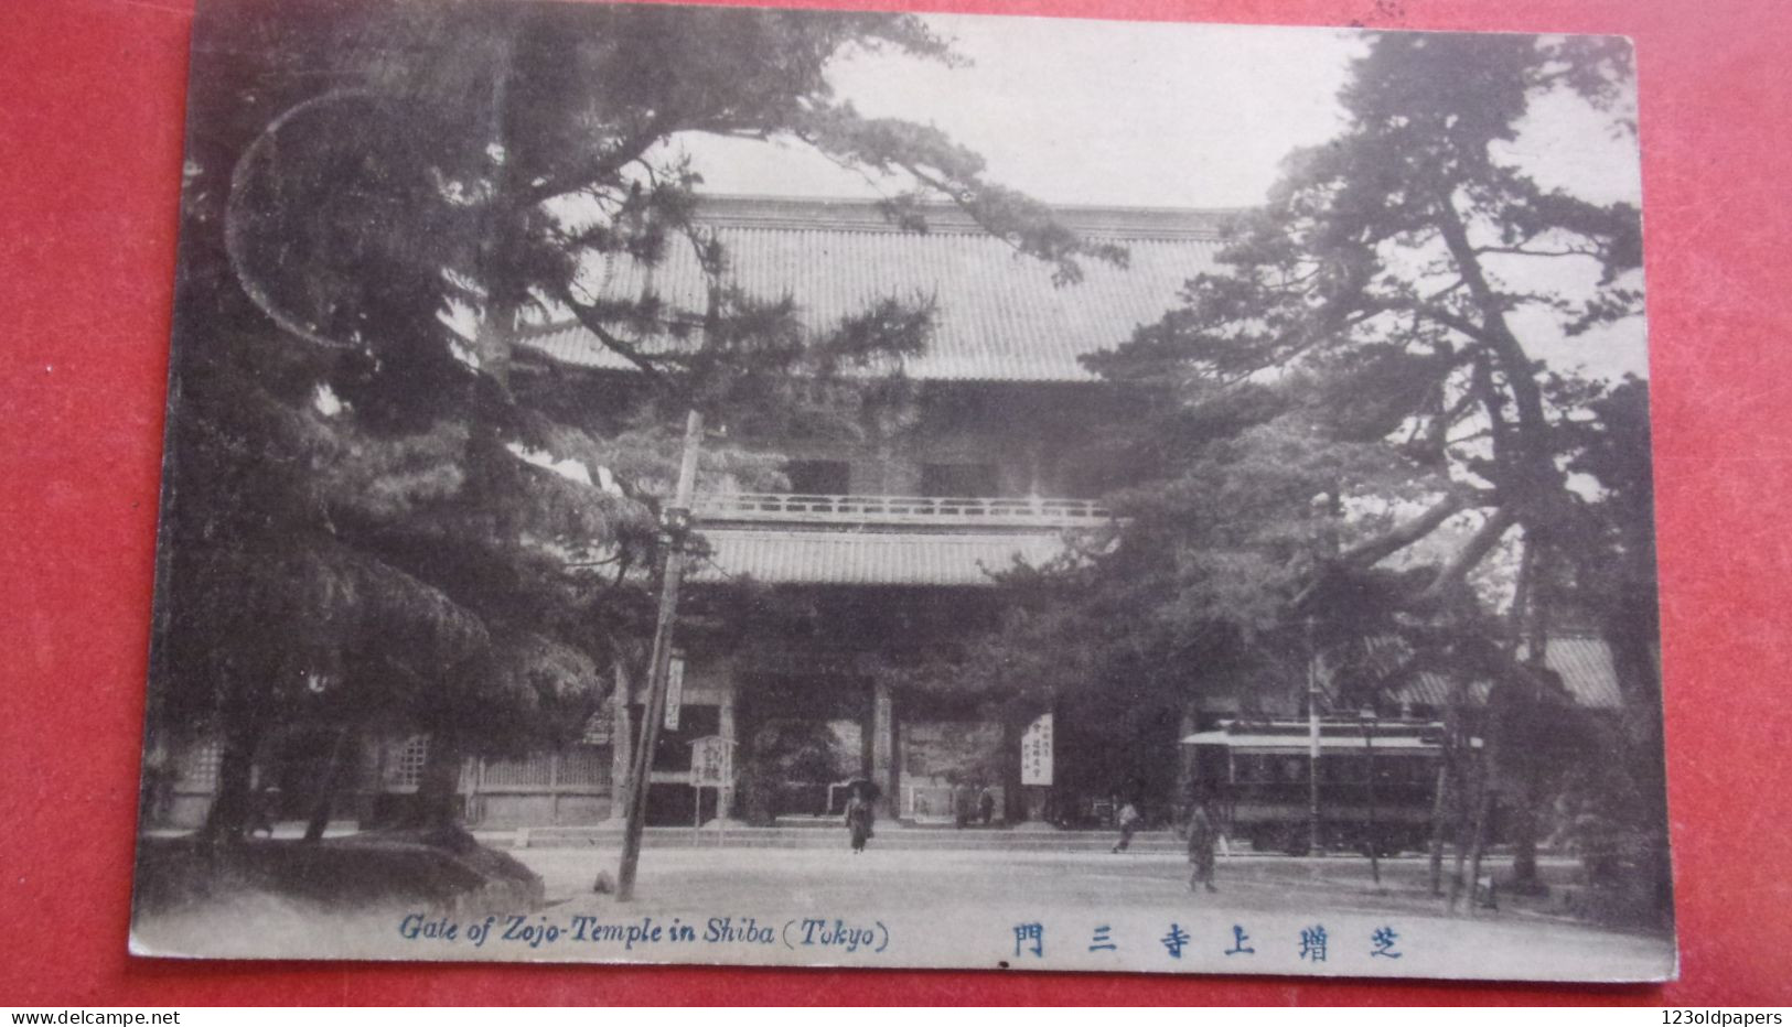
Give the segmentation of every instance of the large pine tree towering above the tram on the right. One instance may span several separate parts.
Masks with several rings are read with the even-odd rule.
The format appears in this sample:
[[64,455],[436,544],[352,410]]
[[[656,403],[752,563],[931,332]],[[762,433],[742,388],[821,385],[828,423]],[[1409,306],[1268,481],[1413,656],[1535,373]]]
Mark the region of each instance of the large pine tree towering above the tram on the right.
[[[1122,522],[1005,576],[982,676],[1075,703],[1097,748],[1174,744],[1215,694],[1288,709],[1310,669],[1349,712],[1425,671],[1491,682],[1495,784],[1534,836],[1538,782],[1595,730],[1543,666],[1552,630],[1622,621],[1607,637],[1634,651],[1654,607],[1645,390],[1538,354],[1611,345],[1641,313],[1641,249],[1633,206],[1505,152],[1545,98],[1627,134],[1629,82],[1618,39],[1374,36],[1340,134],[1288,156],[1177,308],[1088,360],[1134,397],[1082,454]],[[1643,649],[1622,660],[1631,717],[1658,723]],[[1652,782],[1633,823],[1665,852],[1659,739],[1618,755],[1615,777]]]

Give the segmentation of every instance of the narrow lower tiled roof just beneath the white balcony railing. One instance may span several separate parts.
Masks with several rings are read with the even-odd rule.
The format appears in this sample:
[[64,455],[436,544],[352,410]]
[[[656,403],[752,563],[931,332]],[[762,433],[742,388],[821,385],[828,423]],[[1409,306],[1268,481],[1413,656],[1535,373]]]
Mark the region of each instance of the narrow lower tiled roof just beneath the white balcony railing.
[[767,585],[993,585],[1014,556],[1041,564],[1063,549],[1052,533],[767,531],[708,528],[713,555],[695,581]]

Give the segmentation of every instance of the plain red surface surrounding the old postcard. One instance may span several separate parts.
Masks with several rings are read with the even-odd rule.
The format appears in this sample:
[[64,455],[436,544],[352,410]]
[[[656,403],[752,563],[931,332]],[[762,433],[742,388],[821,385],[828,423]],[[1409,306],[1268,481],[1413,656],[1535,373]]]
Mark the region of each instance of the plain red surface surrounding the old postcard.
[[0,0],[0,1004],[1792,1002],[1781,966],[1792,957],[1792,4],[896,2],[1636,41],[1681,980],[1545,988],[127,957],[192,0]]

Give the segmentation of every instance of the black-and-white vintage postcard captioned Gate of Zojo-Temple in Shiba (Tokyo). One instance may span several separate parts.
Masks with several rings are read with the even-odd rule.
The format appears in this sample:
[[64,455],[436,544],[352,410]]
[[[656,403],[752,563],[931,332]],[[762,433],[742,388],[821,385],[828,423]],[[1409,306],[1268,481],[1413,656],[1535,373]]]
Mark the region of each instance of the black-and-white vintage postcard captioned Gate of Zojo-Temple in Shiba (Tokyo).
[[202,2],[133,952],[1672,977],[1634,95]]

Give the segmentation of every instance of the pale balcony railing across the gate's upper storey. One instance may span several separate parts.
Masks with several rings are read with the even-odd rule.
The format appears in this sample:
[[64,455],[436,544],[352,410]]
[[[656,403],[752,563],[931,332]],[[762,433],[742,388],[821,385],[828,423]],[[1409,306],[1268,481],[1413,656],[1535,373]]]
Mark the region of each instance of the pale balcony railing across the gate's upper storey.
[[987,524],[1075,528],[1109,519],[1093,499],[969,496],[801,496],[729,492],[697,497],[704,521],[783,521],[810,524]]

